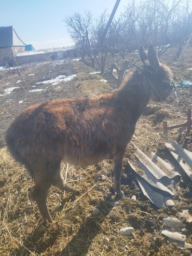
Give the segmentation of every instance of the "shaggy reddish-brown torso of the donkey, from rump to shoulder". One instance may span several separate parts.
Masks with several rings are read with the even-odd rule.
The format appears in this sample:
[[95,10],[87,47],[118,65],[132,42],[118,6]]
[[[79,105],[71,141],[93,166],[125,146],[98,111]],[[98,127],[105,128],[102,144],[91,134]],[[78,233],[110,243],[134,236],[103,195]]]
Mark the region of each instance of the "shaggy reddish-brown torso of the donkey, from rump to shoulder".
[[112,95],[105,95],[30,106],[9,127],[8,149],[28,167],[34,161],[61,159],[80,166],[96,164],[122,143],[125,122],[114,102]]

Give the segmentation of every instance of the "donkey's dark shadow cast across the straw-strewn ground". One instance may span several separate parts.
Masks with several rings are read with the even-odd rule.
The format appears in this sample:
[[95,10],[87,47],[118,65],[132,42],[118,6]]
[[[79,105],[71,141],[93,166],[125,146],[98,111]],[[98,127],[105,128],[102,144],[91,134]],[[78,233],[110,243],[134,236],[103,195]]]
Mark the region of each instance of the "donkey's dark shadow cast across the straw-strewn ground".
[[[81,224],[77,234],[68,241],[62,250],[54,252],[54,255],[81,256],[88,252],[89,247],[92,244],[92,240],[101,230],[101,223],[105,220],[106,216],[114,207],[115,201],[111,199],[111,196],[112,194],[109,194],[104,198],[104,200],[99,202],[97,207],[100,209],[101,214],[98,217],[94,217],[92,214],[89,215],[89,217],[87,217],[86,220]],[[70,199],[64,199],[62,205],[65,204],[66,200],[68,201]],[[57,210],[60,211],[61,207]],[[47,238],[43,239],[45,234]],[[18,249],[14,250],[12,255],[32,255],[31,252],[36,255],[48,251],[49,248],[54,245],[59,235],[61,235],[60,230],[57,228],[51,229],[50,224],[41,222],[29,234],[28,238],[24,241],[23,246],[20,246]],[[27,251],[24,247],[28,248],[31,252]],[[50,255],[52,254],[50,253]]]

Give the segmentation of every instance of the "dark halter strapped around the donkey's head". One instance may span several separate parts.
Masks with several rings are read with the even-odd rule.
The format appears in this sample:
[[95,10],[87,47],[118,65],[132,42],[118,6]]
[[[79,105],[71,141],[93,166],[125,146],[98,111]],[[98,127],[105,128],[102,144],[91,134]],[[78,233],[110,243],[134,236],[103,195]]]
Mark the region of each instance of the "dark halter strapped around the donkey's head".
[[172,90],[175,91],[175,84],[173,79],[171,79],[170,83],[169,83],[169,88],[166,91],[162,92],[162,95],[159,94],[159,92],[157,91],[157,89],[155,88],[155,86],[152,84],[152,82],[150,82],[149,78],[144,76],[143,78],[143,86],[145,89],[145,93],[148,95],[148,93],[150,92],[149,87],[151,87],[155,94],[157,95],[157,97],[159,98],[159,101],[163,101],[164,99],[166,99]]

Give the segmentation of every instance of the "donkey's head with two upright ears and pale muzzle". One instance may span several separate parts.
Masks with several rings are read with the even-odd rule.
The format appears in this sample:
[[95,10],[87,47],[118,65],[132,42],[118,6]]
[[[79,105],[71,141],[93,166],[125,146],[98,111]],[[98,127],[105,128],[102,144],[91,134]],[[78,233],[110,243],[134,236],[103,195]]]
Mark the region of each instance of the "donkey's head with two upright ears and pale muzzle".
[[146,91],[150,90],[150,99],[173,101],[176,98],[176,93],[172,72],[167,65],[159,61],[153,45],[149,46],[148,53],[141,46],[139,56],[144,64],[143,86]]

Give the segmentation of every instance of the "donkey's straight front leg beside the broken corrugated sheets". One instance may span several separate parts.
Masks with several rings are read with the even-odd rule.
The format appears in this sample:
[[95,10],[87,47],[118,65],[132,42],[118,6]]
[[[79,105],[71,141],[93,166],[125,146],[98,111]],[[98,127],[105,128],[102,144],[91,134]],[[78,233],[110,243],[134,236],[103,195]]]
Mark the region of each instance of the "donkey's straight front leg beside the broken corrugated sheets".
[[124,153],[114,154],[114,190],[117,194],[117,198],[122,198],[124,196],[124,192],[122,192],[120,188],[120,176],[122,170],[123,157]]

